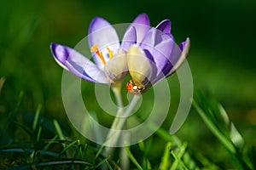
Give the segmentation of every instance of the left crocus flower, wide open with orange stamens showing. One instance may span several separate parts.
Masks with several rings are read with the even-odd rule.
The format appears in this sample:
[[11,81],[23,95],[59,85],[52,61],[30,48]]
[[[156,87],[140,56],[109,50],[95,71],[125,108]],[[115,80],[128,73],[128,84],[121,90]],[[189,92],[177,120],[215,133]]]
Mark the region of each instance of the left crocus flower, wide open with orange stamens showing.
[[89,82],[111,83],[121,81],[127,74],[126,52],[132,44],[142,41],[149,30],[146,14],[140,14],[119,37],[107,20],[95,18],[90,22],[89,46],[95,63],[78,51],[67,46],[51,43],[50,48],[56,62],[75,76]]

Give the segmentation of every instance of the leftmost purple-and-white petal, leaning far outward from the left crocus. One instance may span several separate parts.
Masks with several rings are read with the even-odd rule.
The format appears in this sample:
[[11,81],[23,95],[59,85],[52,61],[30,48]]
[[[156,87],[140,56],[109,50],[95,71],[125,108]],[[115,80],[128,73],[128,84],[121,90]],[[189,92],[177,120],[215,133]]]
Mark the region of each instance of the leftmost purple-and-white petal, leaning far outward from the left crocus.
[[104,73],[73,48],[52,43],[50,46],[56,61],[75,76],[88,82],[108,83]]

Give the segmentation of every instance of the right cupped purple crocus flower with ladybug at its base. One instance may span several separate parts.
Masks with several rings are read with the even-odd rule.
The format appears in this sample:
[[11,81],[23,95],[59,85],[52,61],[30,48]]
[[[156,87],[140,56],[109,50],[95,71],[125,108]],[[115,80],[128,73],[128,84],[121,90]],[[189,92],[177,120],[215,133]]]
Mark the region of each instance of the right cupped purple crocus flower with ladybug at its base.
[[189,38],[177,45],[171,34],[171,21],[163,20],[152,27],[142,42],[131,45],[127,51],[127,65],[131,74],[126,88],[139,94],[157,82],[171,76],[182,65],[189,53]]

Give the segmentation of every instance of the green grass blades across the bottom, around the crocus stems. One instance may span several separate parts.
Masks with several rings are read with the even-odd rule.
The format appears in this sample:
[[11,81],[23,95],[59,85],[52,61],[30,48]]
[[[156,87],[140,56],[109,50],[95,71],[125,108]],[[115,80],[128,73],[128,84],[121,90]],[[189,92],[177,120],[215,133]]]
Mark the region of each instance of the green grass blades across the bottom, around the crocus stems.
[[[89,141],[81,143],[79,139],[64,135],[61,125],[56,120],[50,122],[55,128],[52,129],[52,139],[45,139],[44,121],[40,118],[42,105],[38,105],[30,127],[22,122],[16,122],[20,102],[24,94],[20,94],[18,104],[6,119],[6,128],[12,128],[19,132],[18,135],[26,136],[26,141],[15,140],[2,144],[0,147],[1,168],[27,169],[27,168],[62,168],[62,169],[119,169],[122,167],[118,152],[111,157],[104,157],[102,150],[96,144]],[[170,135],[167,129],[160,127],[157,132],[140,142],[139,144],[126,147],[131,168],[135,169],[254,169],[255,147],[245,144],[241,133],[236,130],[233,122],[224,111],[224,108],[212,99],[206,99],[198,93],[193,100],[195,111],[201,116],[202,121],[208,127],[212,135],[216,137],[218,145],[225,149],[230,162],[212,161],[212,155],[202,155],[200,150],[189,145],[189,139],[182,140],[177,135]],[[15,123],[16,127],[12,127]],[[148,125],[154,129],[154,124]],[[22,131],[22,133],[20,133]],[[4,134],[3,130],[1,131]],[[17,135],[17,133],[16,133]],[[194,133],[196,136],[197,133]],[[4,135],[3,135],[4,137]],[[9,139],[11,139],[9,137]],[[163,150],[155,161],[151,158],[154,150],[151,150],[156,139],[164,141],[166,146],[156,147]],[[217,153],[215,153],[217,154]]]

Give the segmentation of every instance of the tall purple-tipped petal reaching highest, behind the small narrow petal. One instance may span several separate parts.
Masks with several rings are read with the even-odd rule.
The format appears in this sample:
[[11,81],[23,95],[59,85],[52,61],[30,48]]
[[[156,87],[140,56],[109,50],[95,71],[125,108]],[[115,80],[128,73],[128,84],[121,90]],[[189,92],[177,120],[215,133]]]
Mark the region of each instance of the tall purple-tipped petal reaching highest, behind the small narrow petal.
[[131,26],[134,26],[137,32],[137,42],[142,42],[143,37],[147,34],[150,23],[147,14],[139,14],[135,20],[133,20]]

